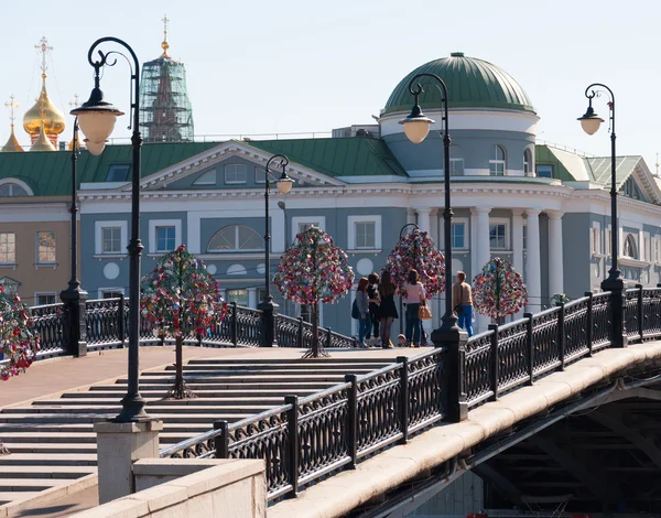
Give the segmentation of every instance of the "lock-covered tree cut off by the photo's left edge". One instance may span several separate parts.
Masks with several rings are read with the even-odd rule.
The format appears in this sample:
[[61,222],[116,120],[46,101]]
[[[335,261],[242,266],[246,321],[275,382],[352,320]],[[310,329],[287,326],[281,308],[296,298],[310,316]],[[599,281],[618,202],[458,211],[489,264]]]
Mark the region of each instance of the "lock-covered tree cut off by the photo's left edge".
[[[30,307],[17,294],[7,293],[0,285],[0,379],[25,373],[39,350],[39,334]],[[0,441],[0,455],[9,450]]]

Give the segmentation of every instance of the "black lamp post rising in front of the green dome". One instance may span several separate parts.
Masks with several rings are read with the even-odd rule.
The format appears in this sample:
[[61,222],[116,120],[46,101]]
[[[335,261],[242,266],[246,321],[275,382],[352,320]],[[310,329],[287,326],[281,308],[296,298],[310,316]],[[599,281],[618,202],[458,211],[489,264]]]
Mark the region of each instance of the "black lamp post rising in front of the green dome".
[[[447,129],[447,87],[441,77],[436,74],[421,73],[413,76],[411,83],[409,83],[409,91],[414,97],[414,106],[411,114],[400,123],[404,126],[404,132],[411,142],[419,144],[422,142],[430,132],[431,126],[434,120],[426,117],[422,109],[418,98],[420,94],[424,91],[422,85],[418,83],[421,77],[431,77],[435,79],[442,93],[443,104],[443,173],[444,173],[444,191],[445,191],[445,211],[443,212],[444,223],[444,253],[445,253],[445,314],[441,319],[441,327],[432,333],[432,341],[436,343],[448,343],[458,339],[459,334],[466,334],[462,332],[457,326],[457,317],[453,312],[452,307],[452,205],[449,199],[449,133]],[[434,335],[436,335],[434,337]],[[467,336],[467,335],[466,335]]]

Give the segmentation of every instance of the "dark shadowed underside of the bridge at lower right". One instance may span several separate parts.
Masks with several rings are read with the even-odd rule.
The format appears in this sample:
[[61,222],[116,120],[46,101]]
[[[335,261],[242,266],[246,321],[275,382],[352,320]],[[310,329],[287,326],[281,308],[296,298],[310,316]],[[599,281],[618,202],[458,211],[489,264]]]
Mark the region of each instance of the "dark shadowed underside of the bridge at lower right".
[[661,384],[614,392],[474,471],[487,508],[659,516]]

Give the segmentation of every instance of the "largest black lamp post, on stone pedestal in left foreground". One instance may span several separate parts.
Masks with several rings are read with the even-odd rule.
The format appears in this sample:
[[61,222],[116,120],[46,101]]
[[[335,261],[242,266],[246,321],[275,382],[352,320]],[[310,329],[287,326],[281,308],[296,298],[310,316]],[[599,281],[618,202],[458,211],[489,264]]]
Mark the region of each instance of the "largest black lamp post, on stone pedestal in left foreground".
[[[121,52],[98,51],[98,61],[94,60],[95,50],[102,43],[113,42],[124,47],[131,56],[129,60]],[[140,256],[143,250],[140,240],[140,149],[142,137],[139,127],[140,108],[140,62],[133,50],[123,41],[106,36],[94,42],[87,54],[87,61],[95,69],[94,89],[89,100],[83,106],[72,110],[78,117],[80,130],[85,134],[87,150],[95,155],[100,154],[106,147],[106,140],[115,128],[115,121],[122,111],[104,100],[104,93],[99,88],[99,72],[105,65],[112,66],[117,63],[111,55],[119,54],[132,64],[131,82],[133,82],[133,98],[131,100],[131,115],[133,133],[132,147],[132,180],[131,180],[131,240],[129,242],[129,382],[127,395],[121,400],[121,411],[115,418],[116,422],[134,422],[151,419],[144,411],[144,399],[138,389],[139,357],[140,357]],[[110,56],[110,60],[108,58]],[[120,309],[123,311],[123,307]]]

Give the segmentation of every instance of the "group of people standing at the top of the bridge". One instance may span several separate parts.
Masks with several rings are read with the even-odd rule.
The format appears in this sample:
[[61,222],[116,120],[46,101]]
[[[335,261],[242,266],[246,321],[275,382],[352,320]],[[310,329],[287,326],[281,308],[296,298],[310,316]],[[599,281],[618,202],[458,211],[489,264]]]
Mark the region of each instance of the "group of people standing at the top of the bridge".
[[[370,273],[358,281],[354,317],[358,320],[358,346],[392,348],[390,339],[392,322],[399,319],[394,304],[394,295],[399,294],[389,271],[379,279]],[[457,272],[456,283],[452,287],[453,307],[458,317],[459,327],[473,336],[473,293],[466,282],[466,273]],[[426,345],[426,333],[420,319],[420,306],[426,305],[426,293],[416,270],[409,270],[407,276],[403,302],[405,310],[405,335],[398,336],[398,345],[402,347],[420,347]],[[370,338],[373,336],[373,344]],[[367,339],[367,343],[365,342]]]

